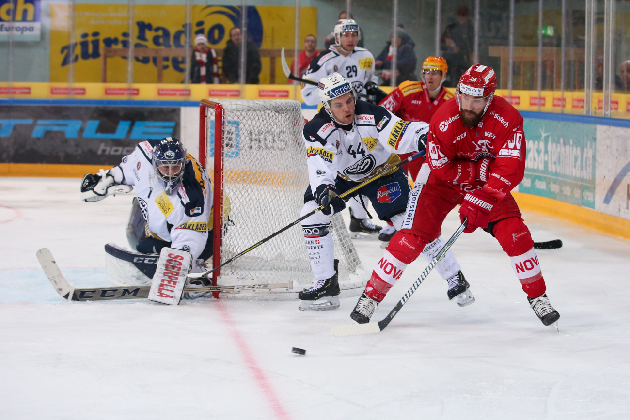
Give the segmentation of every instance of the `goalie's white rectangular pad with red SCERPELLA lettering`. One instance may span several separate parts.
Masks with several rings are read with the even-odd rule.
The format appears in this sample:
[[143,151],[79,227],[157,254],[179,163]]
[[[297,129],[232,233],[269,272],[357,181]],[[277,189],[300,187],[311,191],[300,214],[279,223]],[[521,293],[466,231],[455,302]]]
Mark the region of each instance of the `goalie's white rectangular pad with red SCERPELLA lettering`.
[[157,261],[149,300],[167,305],[178,305],[190,271],[193,256],[181,249],[164,247]]

